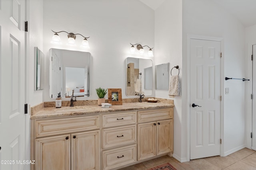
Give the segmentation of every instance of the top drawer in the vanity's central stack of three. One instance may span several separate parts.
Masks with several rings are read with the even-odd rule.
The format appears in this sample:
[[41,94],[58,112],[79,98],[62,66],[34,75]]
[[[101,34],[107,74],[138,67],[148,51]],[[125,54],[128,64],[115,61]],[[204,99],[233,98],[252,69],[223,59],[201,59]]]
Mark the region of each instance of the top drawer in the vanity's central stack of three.
[[136,111],[102,115],[102,127],[129,125],[136,123]]

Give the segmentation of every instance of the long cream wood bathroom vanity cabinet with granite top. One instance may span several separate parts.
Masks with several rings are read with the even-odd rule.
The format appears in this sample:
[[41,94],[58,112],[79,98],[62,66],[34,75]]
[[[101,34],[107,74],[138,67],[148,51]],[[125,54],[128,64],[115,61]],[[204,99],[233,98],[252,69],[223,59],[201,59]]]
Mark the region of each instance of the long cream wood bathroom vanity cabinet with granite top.
[[31,170],[116,170],[171,155],[173,105],[144,105],[33,115]]

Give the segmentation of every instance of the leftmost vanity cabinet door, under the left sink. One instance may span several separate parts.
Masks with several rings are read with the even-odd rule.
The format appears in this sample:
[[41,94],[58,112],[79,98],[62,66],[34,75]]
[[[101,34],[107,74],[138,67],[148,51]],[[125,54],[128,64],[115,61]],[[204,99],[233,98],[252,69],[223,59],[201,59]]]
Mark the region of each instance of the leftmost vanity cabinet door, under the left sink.
[[70,135],[35,139],[36,170],[70,170]]

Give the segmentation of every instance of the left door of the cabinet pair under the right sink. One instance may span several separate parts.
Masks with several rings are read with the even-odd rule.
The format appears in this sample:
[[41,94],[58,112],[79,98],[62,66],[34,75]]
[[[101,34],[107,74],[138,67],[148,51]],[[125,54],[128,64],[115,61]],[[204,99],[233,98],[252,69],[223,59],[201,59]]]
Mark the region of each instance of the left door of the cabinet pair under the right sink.
[[156,155],[156,122],[138,124],[138,160]]

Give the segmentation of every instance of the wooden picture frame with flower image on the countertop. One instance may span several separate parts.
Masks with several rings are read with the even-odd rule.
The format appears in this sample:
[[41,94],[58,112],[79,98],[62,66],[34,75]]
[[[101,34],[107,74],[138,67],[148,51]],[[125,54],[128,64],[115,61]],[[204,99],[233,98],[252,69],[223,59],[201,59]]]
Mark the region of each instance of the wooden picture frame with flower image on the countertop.
[[108,89],[108,103],[112,105],[122,105],[122,89],[121,88]]

